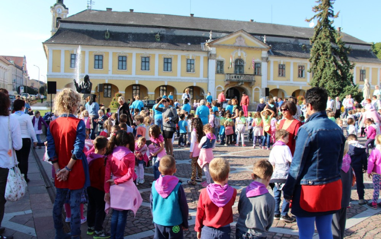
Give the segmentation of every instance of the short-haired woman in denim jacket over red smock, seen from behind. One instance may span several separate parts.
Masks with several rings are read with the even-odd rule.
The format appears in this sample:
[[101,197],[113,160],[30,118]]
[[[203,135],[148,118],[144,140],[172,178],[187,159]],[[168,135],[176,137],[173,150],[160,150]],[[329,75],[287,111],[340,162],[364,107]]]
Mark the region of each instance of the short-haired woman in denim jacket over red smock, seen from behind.
[[328,94],[313,87],[306,92],[306,112],[310,115],[299,128],[294,158],[284,199],[292,202],[299,238],[312,238],[316,223],[320,238],[332,238],[332,216],[341,208],[340,168],[345,137],[326,114]]

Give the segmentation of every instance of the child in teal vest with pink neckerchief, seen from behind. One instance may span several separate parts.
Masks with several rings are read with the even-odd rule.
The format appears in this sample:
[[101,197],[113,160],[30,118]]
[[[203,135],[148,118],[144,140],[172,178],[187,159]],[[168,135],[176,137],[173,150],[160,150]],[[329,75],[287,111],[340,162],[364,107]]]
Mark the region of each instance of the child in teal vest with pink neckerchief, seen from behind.
[[151,212],[155,225],[153,238],[183,238],[188,229],[188,204],[181,182],[173,174],[176,161],[170,155],[160,160],[161,176],[152,183]]

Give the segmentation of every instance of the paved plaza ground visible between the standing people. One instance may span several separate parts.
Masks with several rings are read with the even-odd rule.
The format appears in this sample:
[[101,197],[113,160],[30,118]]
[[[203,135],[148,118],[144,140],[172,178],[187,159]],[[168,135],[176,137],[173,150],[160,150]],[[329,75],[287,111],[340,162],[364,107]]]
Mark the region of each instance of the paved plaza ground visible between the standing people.
[[[360,143],[364,143],[364,138],[360,138]],[[249,185],[251,182],[251,169],[252,164],[259,159],[268,159],[270,151],[253,149],[251,142],[246,142],[247,147],[236,146],[220,146],[217,145],[214,150],[214,157],[221,157],[229,160],[231,166],[231,174],[229,177],[229,185],[237,189],[237,199],[233,206],[234,222],[231,224],[232,233],[231,238],[235,238],[235,223],[238,219],[238,200],[242,188]],[[13,234],[15,239],[30,239],[41,238],[50,239],[54,238],[54,227],[52,220],[52,201],[49,196],[49,190],[52,188],[48,186],[43,180],[42,172],[39,170],[39,163],[36,162],[35,157],[41,159],[45,150],[36,149],[36,153],[29,156],[29,173],[30,182],[28,183],[28,192],[25,197],[17,202],[6,203],[6,214],[4,216],[2,226],[6,227],[5,235]],[[175,159],[177,172],[176,176],[183,182],[184,191],[186,194],[189,206],[189,230],[184,232],[185,238],[196,238],[194,231],[195,216],[197,202],[200,191],[203,189],[200,184],[190,186],[186,184],[186,180],[190,178],[192,172],[190,168],[189,148],[188,147],[175,147]],[[43,168],[47,175],[51,175],[51,167],[49,164],[42,162]],[[138,186],[142,195],[143,203],[140,206],[136,217],[130,213],[128,222],[124,230],[124,238],[153,238],[152,216],[149,207],[150,185],[149,182],[153,180],[152,168],[145,170],[145,183]],[[364,174],[365,184],[365,199],[372,198],[373,185],[369,178]],[[53,188],[54,189],[54,188]],[[272,190],[269,190],[272,193]],[[85,212],[86,214],[86,212]],[[65,218],[62,218],[65,220]],[[347,221],[345,238],[381,238],[381,230],[379,225],[381,223],[381,208],[377,210],[370,209],[365,205],[358,204],[358,196],[356,186],[352,188],[352,201],[351,208],[347,210]],[[104,227],[110,231],[111,217],[107,216],[104,222]],[[69,224],[66,223],[66,228]],[[82,224],[82,238],[92,238],[86,235],[87,224]],[[316,231],[315,231],[316,232]],[[283,221],[276,221],[270,229],[268,238],[298,238],[297,223],[284,223]],[[317,233],[314,238],[319,238]]]

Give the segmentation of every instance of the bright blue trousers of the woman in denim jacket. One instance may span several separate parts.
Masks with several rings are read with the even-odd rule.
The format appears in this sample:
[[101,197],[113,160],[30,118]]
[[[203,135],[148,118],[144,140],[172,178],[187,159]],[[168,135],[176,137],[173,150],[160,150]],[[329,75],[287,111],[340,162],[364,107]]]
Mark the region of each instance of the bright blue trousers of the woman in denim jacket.
[[299,239],[310,239],[315,232],[315,223],[319,238],[333,238],[332,236],[332,217],[333,214],[319,217],[298,217],[296,222],[299,228]]

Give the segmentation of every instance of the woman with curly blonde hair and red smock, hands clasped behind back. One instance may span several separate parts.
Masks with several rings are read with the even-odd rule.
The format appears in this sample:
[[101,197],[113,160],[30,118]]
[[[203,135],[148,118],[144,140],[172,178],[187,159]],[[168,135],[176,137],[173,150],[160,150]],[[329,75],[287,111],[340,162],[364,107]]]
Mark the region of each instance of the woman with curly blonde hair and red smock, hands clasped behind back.
[[[88,164],[83,153],[86,126],[75,117],[81,101],[80,95],[70,88],[64,88],[54,99],[54,113],[59,116],[50,123],[48,139],[49,161],[55,170],[54,184],[56,198],[53,205],[55,238],[80,238],[80,202],[83,188],[90,186]],[[57,145],[57,146],[56,146]],[[71,235],[63,231],[61,213],[70,190]]]

